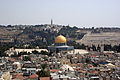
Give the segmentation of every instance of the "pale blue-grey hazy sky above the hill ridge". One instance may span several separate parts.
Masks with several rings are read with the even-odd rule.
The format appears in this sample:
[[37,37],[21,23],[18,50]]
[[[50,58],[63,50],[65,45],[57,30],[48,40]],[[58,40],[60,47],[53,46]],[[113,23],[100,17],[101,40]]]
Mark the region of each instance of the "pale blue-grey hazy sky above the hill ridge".
[[0,0],[0,24],[119,27],[120,0]]

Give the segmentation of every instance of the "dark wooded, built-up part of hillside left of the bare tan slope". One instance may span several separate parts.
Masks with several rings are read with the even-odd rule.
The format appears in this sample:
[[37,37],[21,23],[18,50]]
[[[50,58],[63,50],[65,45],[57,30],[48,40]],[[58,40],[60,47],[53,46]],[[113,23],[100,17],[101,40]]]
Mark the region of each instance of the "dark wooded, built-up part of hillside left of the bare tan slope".
[[81,39],[85,33],[79,28],[62,25],[15,25],[0,27],[0,42],[15,45],[30,44],[35,46],[51,45],[57,35],[64,35],[69,41]]

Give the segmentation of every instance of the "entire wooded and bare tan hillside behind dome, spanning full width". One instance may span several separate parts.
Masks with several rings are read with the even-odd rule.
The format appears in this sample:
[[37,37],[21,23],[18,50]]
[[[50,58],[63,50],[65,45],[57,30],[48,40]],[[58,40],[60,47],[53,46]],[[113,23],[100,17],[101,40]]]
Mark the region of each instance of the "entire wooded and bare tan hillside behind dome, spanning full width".
[[68,45],[73,42],[85,45],[120,44],[120,28],[78,28],[55,24],[0,26],[0,42],[16,46],[48,46],[54,43],[57,35],[65,36]]

